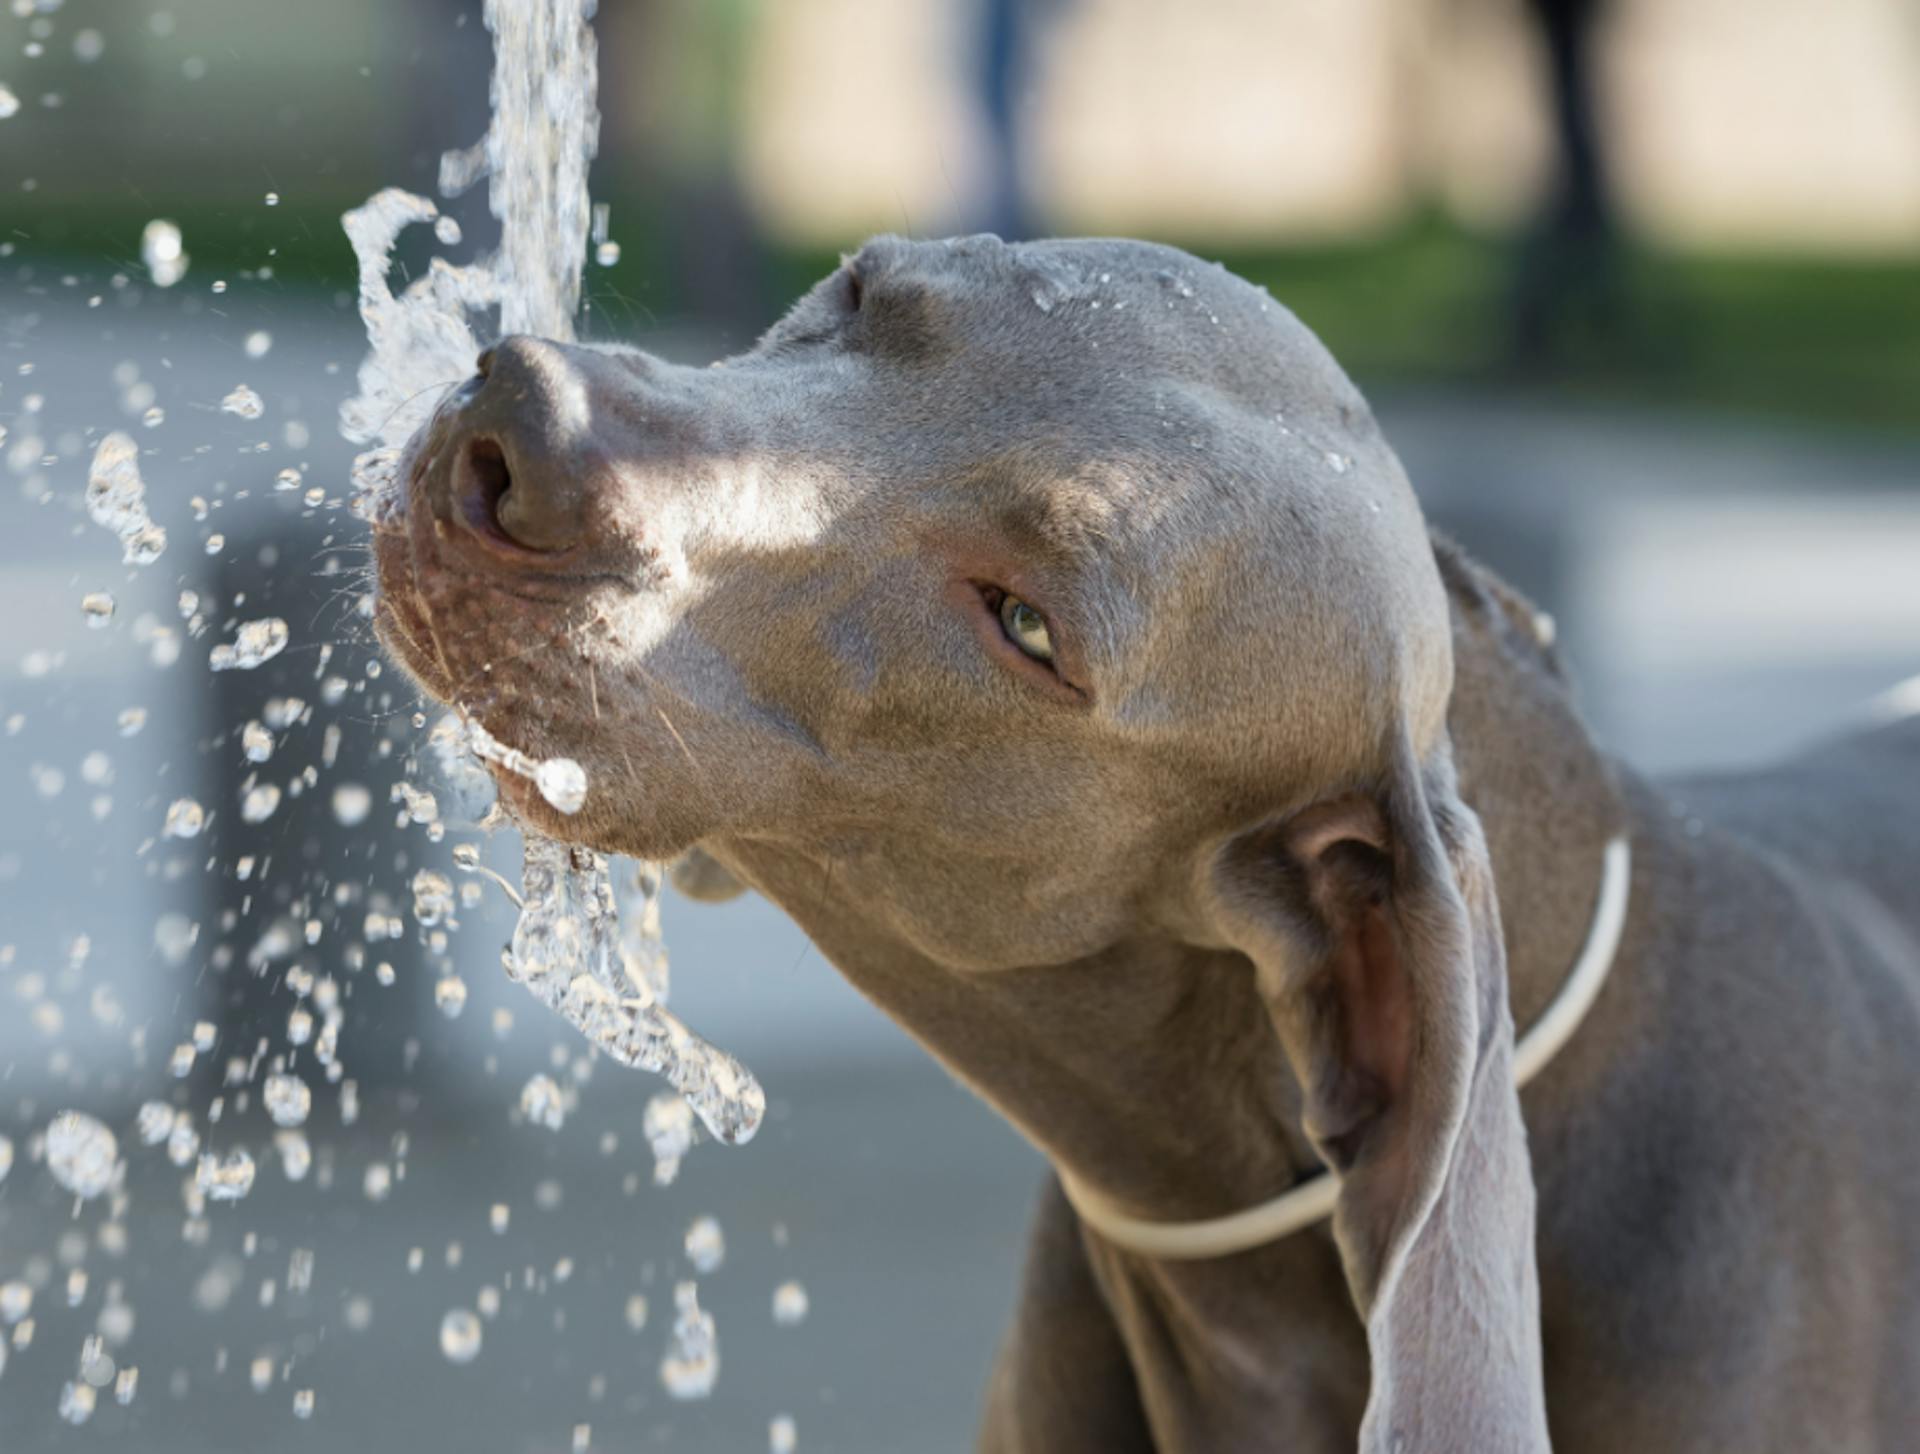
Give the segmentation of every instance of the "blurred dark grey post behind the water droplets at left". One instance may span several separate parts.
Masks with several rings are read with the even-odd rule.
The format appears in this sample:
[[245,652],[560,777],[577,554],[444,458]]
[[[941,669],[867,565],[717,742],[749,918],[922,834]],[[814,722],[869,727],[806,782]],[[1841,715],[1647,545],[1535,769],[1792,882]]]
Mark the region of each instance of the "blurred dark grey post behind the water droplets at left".
[[[401,1081],[405,1043],[432,1001],[432,957],[401,897],[432,855],[422,828],[394,828],[399,809],[390,791],[407,776],[405,707],[415,693],[397,674],[369,676],[378,649],[353,611],[363,582],[349,570],[361,559],[361,532],[344,513],[261,519],[236,530],[219,557],[207,640],[232,640],[228,620],[261,617],[286,620],[292,640],[253,670],[209,676],[202,801],[215,814],[207,839],[223,872],[205,878],[198,918],[202,945],[217,945],[223,1058],[248,1058],[261,1039],[284,1053],[300,1005],[313,1012],[319,1037],[319,1006],[288,985],[290,972],[303,970],[338,985],[346,1074],[363,1097],[380,1097]],[[294,697],[305,703],[294,720],[269,713],[275,699]],[[242,749],[248,722],[269,728],[265,763]],[[242,814],[252,786],[280,789],[278,807],[259,822]],[[342,788],[365,789],[365,809],[336,805]],[[382,922],[397,924],[399,937],[378,933]],[[392,964],[392,985],[382,983],[382,962]],[[300,1058],[313,1076],[313,1049]]]

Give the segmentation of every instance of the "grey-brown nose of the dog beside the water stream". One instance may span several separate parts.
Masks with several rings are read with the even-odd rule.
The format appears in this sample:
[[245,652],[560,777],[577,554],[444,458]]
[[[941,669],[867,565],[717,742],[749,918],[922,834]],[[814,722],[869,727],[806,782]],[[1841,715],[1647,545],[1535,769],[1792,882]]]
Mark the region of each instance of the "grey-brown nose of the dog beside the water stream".
[[588,530],[588,380],[561,344],[503,338],[478,361],[455,442],[453,501],[468,526],[557,553]]

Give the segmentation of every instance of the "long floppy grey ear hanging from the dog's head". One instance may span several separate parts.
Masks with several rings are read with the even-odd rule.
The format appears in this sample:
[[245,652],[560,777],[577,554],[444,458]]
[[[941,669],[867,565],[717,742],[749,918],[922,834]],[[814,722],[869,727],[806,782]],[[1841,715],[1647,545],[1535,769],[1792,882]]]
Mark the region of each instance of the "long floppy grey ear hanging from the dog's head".
[[1361,1448],[1546,1450],[1500,907],[1446,743],[1419,764],[1402,739],[1379,791],[1244,834],[1212,882],[1338,1177],[1373,1356]]

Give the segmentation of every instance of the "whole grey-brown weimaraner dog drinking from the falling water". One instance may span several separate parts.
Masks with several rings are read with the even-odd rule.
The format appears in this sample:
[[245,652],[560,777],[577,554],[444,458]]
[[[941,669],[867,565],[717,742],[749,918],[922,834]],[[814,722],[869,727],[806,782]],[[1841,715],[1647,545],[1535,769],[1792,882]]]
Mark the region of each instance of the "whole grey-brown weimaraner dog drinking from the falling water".
[[403,478],[384,640],[588,768],[526,820],[768,895],[1056,1168],[983,1450],[1920,1446],[1920,722],[1609,761],[1263,292],[881,238],[724,367],[501,342]]

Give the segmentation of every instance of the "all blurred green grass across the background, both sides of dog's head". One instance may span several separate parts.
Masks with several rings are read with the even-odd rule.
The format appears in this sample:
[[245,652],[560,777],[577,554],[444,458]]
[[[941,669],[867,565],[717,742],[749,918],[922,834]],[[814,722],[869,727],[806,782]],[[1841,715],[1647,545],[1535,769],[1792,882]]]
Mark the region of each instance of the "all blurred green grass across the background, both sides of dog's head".
[[[351,288],[340,211],[359,196],[307,188],[300,204],[175,207],[192,282],[271,263],[278,286]],[[46,271],[138,273],[148,211],[125,200],[61,202],[0,232]],[[27,221],[27,219],[23,219]],[[645,336],[687,323],[672,250],[639,200],[614,202],[622,259],[588,269],[597,330]],[[1367,386],[1551,388],[1555,398],[1715,409],[1772,419],[1920,430],[1920,257],[1768,259],[1630,246],[1609,305],[1576,319],[1548,361],[1515,359],[1509,240],[1419,221],[1348,246],[1219,250],[1188,244],[1292,307]],[[424,255],[424,240],[417,248]],[[415,259],[417,261],[417,259]],[[774,250],[741,279],[758,323],[829,271],[829,250]],[[753,325],[737,325],[753,327]],[[743,340],[728,340],[743,342]]]

